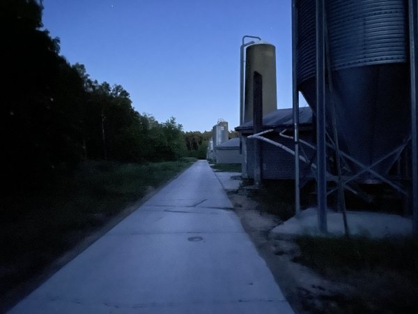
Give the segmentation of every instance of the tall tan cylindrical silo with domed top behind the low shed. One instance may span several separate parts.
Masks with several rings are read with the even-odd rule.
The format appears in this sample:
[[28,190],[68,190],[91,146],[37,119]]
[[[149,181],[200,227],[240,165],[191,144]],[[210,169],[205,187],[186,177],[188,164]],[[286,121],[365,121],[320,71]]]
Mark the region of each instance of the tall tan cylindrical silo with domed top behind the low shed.
[[277,110],[276,48],[259,41],[247,47],[245,59],[244,123],[253,119],[254,71],[263,77],[263,115]]

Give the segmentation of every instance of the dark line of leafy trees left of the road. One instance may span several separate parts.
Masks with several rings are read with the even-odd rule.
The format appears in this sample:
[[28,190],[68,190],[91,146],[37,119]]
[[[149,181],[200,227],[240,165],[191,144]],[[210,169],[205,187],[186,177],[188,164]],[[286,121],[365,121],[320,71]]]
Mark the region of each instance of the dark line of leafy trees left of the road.
[[174,117],[160,123],[139,114],[121,85],[71,65],[59,38],[43,28],[42,8],[40,0],[0,2],[3,178],[10,187],[81,160],[206,158],[210,131],[184,132]]

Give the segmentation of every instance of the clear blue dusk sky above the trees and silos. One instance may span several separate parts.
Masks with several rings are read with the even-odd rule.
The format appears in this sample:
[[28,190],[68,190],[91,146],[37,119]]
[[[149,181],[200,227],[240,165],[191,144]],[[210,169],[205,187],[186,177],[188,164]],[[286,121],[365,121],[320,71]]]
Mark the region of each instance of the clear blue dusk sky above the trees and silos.
[[121,84],[139,113],[184,130],[239,124],[240,45],[276,46],[277,105],[292,106],[291,0],[44,0],[61,54],[93,80]]

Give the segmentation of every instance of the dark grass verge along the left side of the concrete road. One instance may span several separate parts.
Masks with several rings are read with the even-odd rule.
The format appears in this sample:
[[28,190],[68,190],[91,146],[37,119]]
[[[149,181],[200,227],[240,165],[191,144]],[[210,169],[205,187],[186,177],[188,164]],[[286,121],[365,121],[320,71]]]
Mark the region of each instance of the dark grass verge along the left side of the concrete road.
[[9,195],[0,222],[0,299],[196,160],[88,161],[72,175]]

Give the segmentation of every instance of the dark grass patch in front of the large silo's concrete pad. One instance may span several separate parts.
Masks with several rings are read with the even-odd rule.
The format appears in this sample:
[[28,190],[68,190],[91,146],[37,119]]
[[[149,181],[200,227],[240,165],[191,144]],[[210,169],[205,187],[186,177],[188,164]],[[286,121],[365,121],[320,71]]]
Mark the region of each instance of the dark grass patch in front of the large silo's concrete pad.
[[303,236],[295,241],[302,252],[295,262],[354,287],[353,295],[339,296],[346,309],[355,303],[357,313],[418,313],[417,238]]

